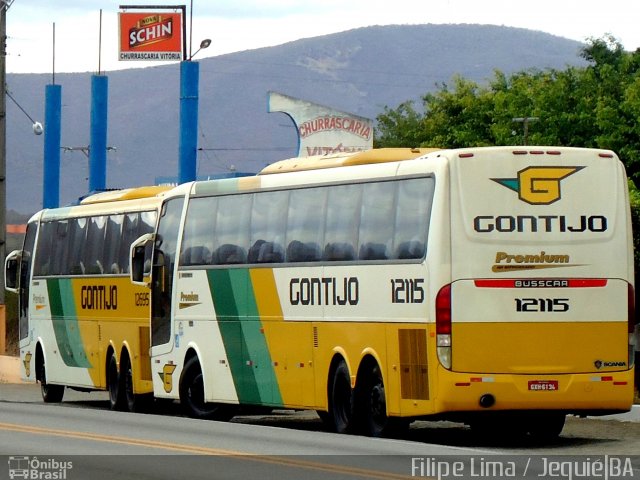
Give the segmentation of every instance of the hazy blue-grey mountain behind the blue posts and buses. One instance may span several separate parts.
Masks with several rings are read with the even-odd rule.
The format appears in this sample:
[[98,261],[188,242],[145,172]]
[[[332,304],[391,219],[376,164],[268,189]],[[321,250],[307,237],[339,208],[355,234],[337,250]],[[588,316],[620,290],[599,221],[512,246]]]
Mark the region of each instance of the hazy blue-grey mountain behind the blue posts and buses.
[[[484,82],[499,69],[583,65],[579,42],[487,25],[375,26],[200,59],[198,174],[257,171],[296,154],[293,124],[267,113],[269,90],[375,119],[385,106],[418,100],[453,75]],[[141,64],[142,65],[142,64]],[[107,72],[107,186],[146,185],[178,170],[179,65]],[[56,74],[62,85],[62,146],[89,143],[91,73]],[[7,88],[44,119],[50,74],[9,74]],[[46,127],[46,126],[45,126]],[[7,100],[7,208],[42,205],[44,136]],[[61,203],[86,193],[87,157],[61,154]]]

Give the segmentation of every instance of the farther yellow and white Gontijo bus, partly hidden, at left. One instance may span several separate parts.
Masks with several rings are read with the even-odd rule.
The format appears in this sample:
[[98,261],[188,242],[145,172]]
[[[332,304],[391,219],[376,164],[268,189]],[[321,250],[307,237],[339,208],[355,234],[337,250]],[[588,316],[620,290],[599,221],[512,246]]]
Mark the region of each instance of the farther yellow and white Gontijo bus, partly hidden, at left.
[[42,210],[7,256],[22,378],[40,382],[45,402],[62,401],[65,387],[108,390],[111,408],[134,411],[151,396],[149,292],[129,281],[129,256],[131,242],[154,230],[164,190],[102,192]]

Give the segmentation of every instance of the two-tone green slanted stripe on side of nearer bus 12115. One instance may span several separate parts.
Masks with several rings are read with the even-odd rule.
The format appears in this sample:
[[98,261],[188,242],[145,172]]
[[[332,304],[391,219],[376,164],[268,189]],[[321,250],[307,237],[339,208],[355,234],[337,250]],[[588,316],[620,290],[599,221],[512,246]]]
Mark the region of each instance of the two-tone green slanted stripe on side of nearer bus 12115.
[[282,405],[249,270],[220,269],[207,273],[238,400]]

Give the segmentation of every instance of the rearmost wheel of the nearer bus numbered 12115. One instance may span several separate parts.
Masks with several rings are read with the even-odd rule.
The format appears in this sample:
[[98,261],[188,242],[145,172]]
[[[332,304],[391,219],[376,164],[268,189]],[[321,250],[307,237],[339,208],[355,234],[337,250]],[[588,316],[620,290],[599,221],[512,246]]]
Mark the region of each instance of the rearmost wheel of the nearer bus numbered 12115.
[[362,384],[356,387],[358,429],[371,437],[388,433],[391,422],[387,417],[387,399],[380,367],[373,366],[359,381]]

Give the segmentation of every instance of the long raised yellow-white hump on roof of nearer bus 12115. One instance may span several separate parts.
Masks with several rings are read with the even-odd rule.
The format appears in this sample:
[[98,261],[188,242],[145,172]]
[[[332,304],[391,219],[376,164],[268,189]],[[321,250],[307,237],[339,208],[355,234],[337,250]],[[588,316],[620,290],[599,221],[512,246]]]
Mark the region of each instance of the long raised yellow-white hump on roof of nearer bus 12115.
[[355,153],[337,153],[332,155],[315,155],[295,157],[263,168],[258,175],[273,173],[297,172],[302,170],[319,170],[323,168],[346,167],[351,165],[367,165],[372,163],[398,162],[411,160],[440,148],[377,148]]

